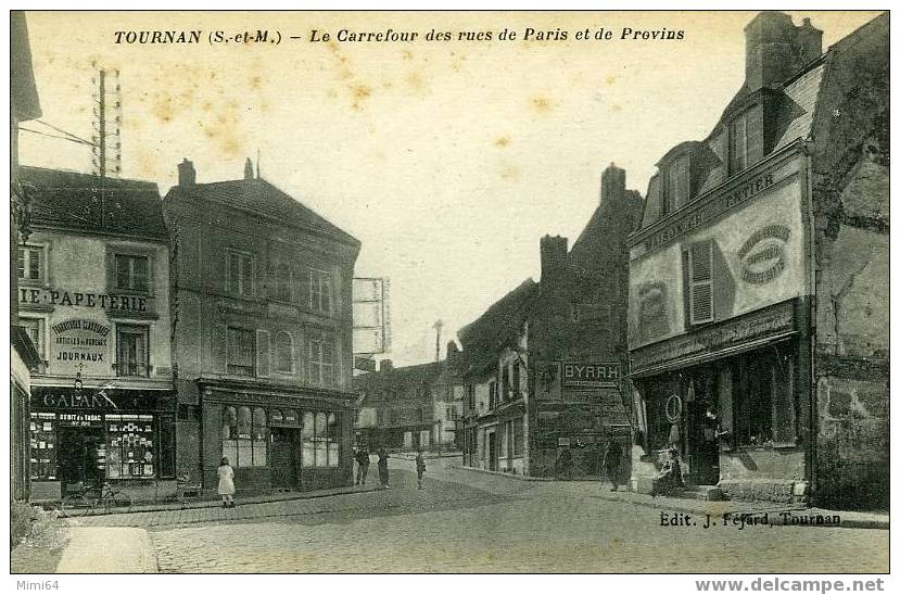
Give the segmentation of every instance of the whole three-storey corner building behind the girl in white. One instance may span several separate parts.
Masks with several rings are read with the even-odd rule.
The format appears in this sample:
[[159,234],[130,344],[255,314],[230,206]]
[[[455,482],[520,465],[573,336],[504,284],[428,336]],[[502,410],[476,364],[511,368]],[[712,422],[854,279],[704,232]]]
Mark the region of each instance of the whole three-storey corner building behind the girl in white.
[[173,237],[178,470],[239,493],[353,483],[353,267],[359,242],[253,176],[178,166]]

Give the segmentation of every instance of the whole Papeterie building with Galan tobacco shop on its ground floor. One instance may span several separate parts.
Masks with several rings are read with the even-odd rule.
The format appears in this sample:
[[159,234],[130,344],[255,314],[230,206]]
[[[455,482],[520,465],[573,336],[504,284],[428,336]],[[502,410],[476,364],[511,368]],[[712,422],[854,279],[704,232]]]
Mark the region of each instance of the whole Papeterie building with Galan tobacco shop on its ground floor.
[[18,246],[31,378],[30,491],[58,501],[110,481],[175,493],[169,246],[152,182],[21,167],[31,233]]

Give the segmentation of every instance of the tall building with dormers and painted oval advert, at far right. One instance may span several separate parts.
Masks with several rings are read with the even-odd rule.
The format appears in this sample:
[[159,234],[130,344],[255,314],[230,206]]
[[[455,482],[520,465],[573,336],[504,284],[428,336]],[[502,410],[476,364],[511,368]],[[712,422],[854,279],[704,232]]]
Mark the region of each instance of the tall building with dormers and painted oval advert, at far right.
[[760,13],[744,86],[658,163],[629,241],[638,491],[674,446],[728,497],[887,506],[888,33],[823,55]]

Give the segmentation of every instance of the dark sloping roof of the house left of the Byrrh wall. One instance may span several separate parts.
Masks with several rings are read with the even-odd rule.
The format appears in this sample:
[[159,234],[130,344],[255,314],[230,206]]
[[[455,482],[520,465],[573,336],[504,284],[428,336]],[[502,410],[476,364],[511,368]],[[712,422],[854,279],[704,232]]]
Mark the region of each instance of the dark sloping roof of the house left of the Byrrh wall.
[[459,330],[457,336],[462,344],[466,374],[484,374],[497,365],[497,357],[505,347],[517,344],[537,301],[537,288],[533,279],[525,279]]

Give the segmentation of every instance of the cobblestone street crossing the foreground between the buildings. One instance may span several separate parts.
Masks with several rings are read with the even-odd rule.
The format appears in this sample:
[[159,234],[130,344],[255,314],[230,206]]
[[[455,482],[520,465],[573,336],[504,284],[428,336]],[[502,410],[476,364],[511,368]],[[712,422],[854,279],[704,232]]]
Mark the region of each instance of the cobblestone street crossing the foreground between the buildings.
[[[218,509],[94,517],[144,526],[162,572],[886,572],[888,532],[660,527],[660,510],[585,482],[527,482],[398,459],[391,490]],[[187,522],[186,522],[187,520]],[[166,524],[169,523],[169,524]],[[852,544],[852,555],[848,547]]]

